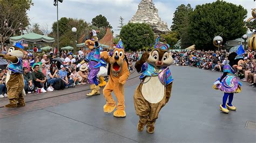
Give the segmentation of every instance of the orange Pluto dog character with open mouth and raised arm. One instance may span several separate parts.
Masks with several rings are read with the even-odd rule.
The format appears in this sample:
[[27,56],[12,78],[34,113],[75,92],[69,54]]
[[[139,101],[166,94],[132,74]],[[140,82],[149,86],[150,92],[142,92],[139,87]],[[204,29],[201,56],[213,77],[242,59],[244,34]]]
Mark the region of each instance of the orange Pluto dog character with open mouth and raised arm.
[[116,108],[111,92],[117,97],[117,110],[114,111],[114,117],[125,117],[124,104],[124,84],[129,77],[128,61],[125,56],[123,42],[119,41],[114,48],[113,56],[109,56],[106,51],[103,52],[103,59],[109,63],[109,81],[103,89],[103,94],[106,99],[106,104],[103,109],[105,113],[111,113]]

